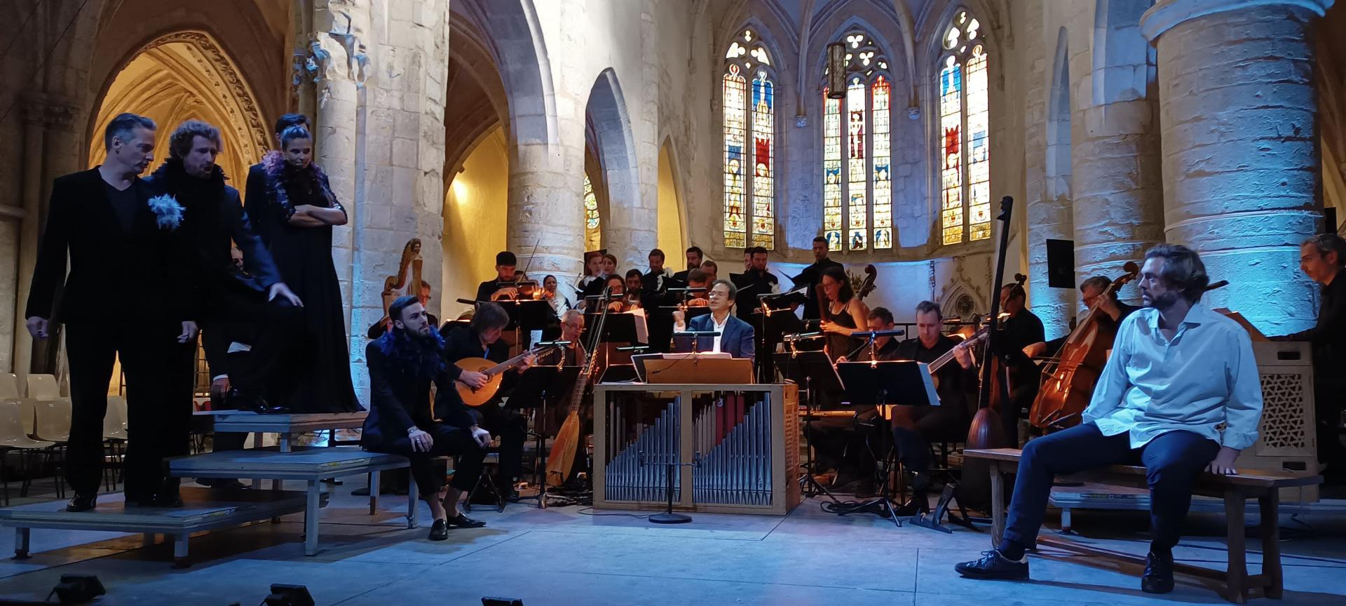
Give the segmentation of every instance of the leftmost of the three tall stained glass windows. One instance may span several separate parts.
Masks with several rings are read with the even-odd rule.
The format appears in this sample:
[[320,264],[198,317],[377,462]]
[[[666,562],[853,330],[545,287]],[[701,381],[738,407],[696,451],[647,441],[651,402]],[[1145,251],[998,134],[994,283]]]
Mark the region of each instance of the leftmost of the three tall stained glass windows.
[[[724,54],[724,246],[775,248],[775,79],[752,30]],[[750,88],[751,81],[751,88]]]

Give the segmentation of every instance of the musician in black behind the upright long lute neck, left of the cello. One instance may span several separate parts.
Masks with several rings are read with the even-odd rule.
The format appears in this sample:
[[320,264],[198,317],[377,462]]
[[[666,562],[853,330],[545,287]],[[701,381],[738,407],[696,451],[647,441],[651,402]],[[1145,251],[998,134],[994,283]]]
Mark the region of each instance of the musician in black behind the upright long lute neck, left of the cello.
[[1005,438],[1014,447],[1019,446],[1019,415],[1020,411],[1032,405],[1038,397],[1038,388],[1042,382],[1042,370],[1023,353],[1028,345],[1046,341],[1042,319],[1024,307],[1027,295],[1019,284],[1005,284],[1000,288],[1000,310],[1010,314],[1001,322],[1004,330],[997,339],[1001,357],[1010,368],[1010,405],[1000,411],[1000,420],[1004,422]]

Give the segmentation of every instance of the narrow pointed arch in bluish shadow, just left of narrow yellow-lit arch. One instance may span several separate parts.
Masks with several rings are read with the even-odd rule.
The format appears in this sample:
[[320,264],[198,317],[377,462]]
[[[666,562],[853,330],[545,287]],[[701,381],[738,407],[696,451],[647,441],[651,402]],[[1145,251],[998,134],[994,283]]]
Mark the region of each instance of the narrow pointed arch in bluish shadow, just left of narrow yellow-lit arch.
[[[586,123],[594,125],[608,199],[607,213],[603,214],[603,241],[608,252],[616,255],[618,267],[639,265],[643,257],[633,234],[614,233],[619,228],[635,229],[643,220],[633,213],[641,198],[641,178],[631,117],[622,85],[611,67],[604,69],[590,89],[584,116]],[[575,211],[580,213],[581,207]]]

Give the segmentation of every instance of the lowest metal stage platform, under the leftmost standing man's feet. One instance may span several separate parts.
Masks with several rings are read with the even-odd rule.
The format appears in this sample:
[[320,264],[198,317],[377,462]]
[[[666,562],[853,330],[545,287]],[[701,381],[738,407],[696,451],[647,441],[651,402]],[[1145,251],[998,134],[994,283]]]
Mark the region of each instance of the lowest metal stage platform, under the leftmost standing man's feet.
[[[66,512],[65,501],[40,502],[0,509],[0,527],[15,529],[15,559],[28,558],[30,532],[34,528],[67,531],[105,531],[143,533],[144,544],[153,544],[155,535],[172,536],[174,567],[186,568],[187,540],[192,532],[240,527],[304,510],[300,492],[238,490],[218,493],[203,487],[183,487],[182,508],[124,506],[104,496],[92,512]],[[324,505],[326,498],[319,501]]]

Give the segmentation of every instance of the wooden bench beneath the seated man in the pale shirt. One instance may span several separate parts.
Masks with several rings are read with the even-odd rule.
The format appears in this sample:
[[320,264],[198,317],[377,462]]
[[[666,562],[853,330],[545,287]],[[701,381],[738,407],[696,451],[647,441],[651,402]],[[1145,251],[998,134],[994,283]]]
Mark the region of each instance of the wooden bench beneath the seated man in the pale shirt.
[[[1022,451],[1018,448],[966,450],[964,457],[981,459],[991,467],[991,518],[992,547],[1000,544],[1005,529],[1004,475],[1019,469]],[[1073,474],[1070,481],[1092,482],[1110,486],[1148,487],[1145,469],[1129,465],[1112,465],[1097,470]],[[1225,500],[1226,541],[1229,545],[1229,568],[1225,572],[1189,564],[1174,564],[1174,572],[1199,576],[1222,583],[1224,597],[1234,603],[1248,601],[1249,593],[1261,590],[1261,595],[1279,599],[1283,588],[1280,568],[1280,489],[1322,483],[1322,475],[1289,475],[1269,471],[1245,473],[1238,475],[1201,474],[1193,486],[1193,494]],[[1248,575],[1248,548],[1244,541],[1244,501],[1256,498],[1261,517],[1263,571]],[[1144,556],[1123,553],[1098,547],[1089,547],[1059,536],[1039,536],[1038,544],[1055,547],[1071,553],[1098,556],[1102,560],[1145,564]],[[1088,560],[1085,560],[1088,563]]]

